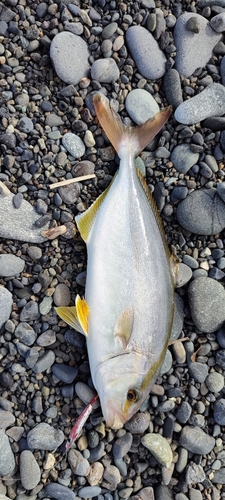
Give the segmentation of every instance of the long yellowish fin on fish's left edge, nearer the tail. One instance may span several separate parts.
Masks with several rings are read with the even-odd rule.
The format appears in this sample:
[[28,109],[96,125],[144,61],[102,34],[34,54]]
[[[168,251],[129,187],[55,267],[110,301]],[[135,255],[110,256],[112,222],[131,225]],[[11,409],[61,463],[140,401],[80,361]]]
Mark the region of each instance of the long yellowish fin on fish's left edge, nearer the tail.
[[87,243],[87,239],[91,231],[91,228],[93,226],[95,217],[108,191],[110,190],[110,187],[114,182],[115,177],[116,176],[114,176],[112,182],[110,182],[109,186],[105,189],[105,191],[102,194],[100,194],[100,196],[98,196],[95,202],[92,203],[92,205],[83,214],[77,215],[75,217],[77,227],[85,243]]

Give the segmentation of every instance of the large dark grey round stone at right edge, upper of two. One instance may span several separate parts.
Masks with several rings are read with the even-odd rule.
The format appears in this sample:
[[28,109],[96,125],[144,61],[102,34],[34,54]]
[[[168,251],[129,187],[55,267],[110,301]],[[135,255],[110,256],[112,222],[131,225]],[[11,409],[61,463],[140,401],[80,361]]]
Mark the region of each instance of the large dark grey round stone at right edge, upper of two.
[[217,190],[193,191],[177,207],[179,224],[195,234],[218,234],[225,227],[225,207]]

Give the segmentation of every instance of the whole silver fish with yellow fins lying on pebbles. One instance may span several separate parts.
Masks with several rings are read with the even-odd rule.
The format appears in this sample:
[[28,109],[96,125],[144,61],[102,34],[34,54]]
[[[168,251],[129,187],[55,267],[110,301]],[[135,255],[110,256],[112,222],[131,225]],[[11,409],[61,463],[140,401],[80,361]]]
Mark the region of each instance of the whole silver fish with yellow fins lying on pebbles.
[[161,130],[171,107],[127,127],[101,94],[98,121],[120,158],[107,189],[76,216],[87,245],[85,296],[57,307],[86,336],[92,381],[106,425],[120,429],[140,409],[160,370],[174,314],[177,259],[135,158]]

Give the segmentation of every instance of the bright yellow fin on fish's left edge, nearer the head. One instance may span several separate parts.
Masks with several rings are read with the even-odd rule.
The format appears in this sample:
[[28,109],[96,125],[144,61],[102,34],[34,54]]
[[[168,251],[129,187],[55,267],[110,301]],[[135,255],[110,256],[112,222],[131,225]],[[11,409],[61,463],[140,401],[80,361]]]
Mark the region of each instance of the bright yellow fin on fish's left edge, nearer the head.
[[79,295],[77,295],[76,306],[56,307],[55,310],[65,323],[74,328],[74,330],[87,336],[89,308],[84,299],[81,299]]

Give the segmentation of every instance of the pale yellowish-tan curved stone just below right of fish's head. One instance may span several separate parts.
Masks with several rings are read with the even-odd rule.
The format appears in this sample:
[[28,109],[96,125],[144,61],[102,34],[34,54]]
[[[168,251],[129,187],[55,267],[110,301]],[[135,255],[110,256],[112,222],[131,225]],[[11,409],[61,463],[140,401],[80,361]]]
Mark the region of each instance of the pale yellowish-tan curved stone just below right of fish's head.
[[164,437],[155,433],[145,434],[141,438],[141,442],[163,467],[170,467],[173,460],[173,453],[168,441]]

